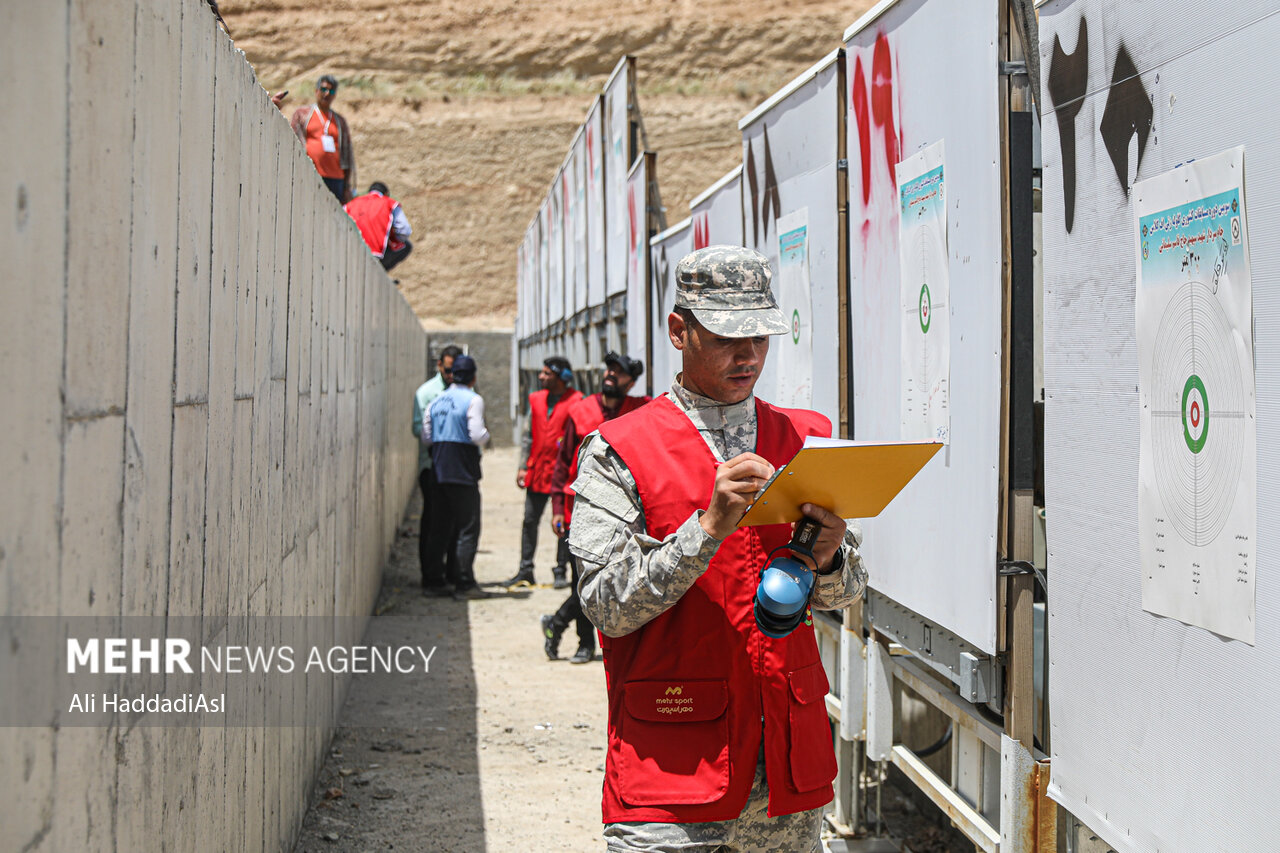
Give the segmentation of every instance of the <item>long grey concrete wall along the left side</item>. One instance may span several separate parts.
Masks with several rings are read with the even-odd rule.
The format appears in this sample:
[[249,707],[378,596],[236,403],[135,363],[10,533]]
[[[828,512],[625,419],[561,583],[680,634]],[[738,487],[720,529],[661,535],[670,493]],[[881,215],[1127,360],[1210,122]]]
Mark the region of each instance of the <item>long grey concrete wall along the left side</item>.
[[344,683],[251,697],[305,726],[74,727],[13,626],[355,642],[425,336],[205,0],[0,4],[0,690],[50,707],[0,729],[3,847],[287,849]]

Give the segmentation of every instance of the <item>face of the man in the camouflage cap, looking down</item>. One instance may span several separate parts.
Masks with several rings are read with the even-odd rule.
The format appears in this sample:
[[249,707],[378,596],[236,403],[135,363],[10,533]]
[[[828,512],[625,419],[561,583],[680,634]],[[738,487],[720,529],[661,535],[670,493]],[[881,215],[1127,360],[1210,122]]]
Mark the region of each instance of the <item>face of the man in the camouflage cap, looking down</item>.
[[675,313],[667,318],[667,332],[684,356],[681,383],[686,388],[719,403],[742,402],[751,396],[769,353],[767,336],[722,338],[698,321],[685,323]]

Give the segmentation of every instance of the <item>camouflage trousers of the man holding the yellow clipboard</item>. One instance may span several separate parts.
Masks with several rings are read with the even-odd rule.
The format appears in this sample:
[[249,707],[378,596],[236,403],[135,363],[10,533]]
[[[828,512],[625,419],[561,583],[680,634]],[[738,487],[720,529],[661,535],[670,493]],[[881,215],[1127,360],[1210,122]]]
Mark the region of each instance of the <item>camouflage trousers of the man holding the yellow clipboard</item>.
[[764,754],[737,820],[705,824],[605,824],[609,853],[818,853],[822,809],[768,817]]

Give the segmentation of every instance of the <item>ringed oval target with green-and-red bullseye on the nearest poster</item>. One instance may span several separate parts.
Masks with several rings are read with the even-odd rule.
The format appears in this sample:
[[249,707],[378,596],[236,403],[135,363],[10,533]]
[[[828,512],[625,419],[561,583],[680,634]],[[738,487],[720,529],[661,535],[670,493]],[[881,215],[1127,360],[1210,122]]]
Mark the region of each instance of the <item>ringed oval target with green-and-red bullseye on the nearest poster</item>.
[[1169,301],[1152,361],[1151,446],[1169,520],[1189,544],[1208,544],[1231,515],[1248,441],[1247,401],[1231,327],[1208,286]]

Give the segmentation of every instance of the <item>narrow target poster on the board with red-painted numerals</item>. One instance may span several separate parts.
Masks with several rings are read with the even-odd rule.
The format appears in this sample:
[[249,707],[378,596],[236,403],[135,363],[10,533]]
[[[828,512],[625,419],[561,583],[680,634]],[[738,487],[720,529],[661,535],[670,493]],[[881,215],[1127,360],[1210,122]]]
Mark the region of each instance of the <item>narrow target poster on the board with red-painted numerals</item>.
[[942,141],[896,167],[904,441],[951,441],[951,274]]

